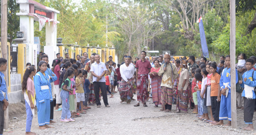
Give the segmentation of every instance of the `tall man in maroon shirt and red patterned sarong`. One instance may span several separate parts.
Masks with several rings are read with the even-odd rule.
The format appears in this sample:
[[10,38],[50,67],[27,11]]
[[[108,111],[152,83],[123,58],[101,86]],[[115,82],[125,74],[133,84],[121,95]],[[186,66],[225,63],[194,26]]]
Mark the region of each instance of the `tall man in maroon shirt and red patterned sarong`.
[[151,69],[151,64],[149,61],[145,60],[146,52],[142,51],[140,53],[141,59],[136,62],[136,79],[137,79],[137,104],[135,107],[139,106],[139,102],[147,107],[146,101],[148,98],[148,73]]

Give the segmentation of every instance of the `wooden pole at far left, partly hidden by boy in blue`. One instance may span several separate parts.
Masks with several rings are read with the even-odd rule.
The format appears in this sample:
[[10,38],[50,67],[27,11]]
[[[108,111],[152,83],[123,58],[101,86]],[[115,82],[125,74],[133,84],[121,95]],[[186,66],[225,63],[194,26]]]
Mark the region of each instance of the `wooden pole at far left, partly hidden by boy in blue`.
[[[7,54],[7,0],[2,0],[1,1],[1,57],[7,59],[8,61],[8,54]],[[8,65],[8,64],[7,64]],[[8,71],[9,69],[7,68],[6,71],[4,71],[5,75],[5,82],[6,82],[6,87],[7,87],[7,92],[6,96],[8,96]],[[4,117],[5,117],[5,124],[4,128],[8,129],[8,107],[4,111]]]

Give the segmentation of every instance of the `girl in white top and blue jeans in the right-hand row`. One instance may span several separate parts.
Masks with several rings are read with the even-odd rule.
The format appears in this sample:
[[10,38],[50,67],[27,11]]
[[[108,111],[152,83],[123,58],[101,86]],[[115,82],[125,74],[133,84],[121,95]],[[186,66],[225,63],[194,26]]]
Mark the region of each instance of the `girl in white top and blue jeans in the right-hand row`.
[[207,121],[209,120],[209,116],[208,116],[208,109],[207,109],[207,106],[204,105],[204,100],[205,100],[205,91],[207,91],[207,75],[208,75],[208,72],[206,71],[206,68],[204,67],[202,70],[201,70],[201,75],[204,77],[202,79],[202,87],[201,87],[201,105],[203,107],[203,116],[200,117],[199,119],[202,119],[203,121]]

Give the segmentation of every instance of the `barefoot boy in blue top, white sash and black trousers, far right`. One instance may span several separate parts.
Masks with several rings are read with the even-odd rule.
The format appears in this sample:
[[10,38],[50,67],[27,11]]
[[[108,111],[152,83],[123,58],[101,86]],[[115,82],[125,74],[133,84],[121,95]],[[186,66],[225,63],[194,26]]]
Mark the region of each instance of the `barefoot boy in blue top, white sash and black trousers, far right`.
[[256,72],[252,69],[254,60],[251,58],[246,59],[246,69],[247,71],[243,74],[243,81],[239,80],[239,84],[244,88],[242,96],[245,97],[244,103],[244,121],[248,124],[244,130],[254,130],[252,125],[252,118],[254,113],[255,105],[255,93],[254,87],[256,87]]

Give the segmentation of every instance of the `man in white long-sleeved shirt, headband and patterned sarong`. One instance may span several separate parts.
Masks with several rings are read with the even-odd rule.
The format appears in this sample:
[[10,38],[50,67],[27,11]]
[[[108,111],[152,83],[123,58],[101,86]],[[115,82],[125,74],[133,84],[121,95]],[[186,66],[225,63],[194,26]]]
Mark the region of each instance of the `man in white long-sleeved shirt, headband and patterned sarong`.
[[135,68],[130,64],[130,57],[125,57],[125,64],[120,66],[121,81],[119,84],[119,94],[120,94],[120,103],[126,101],[127,104],[130,104],[131,98],[133,97],[133,74]]

